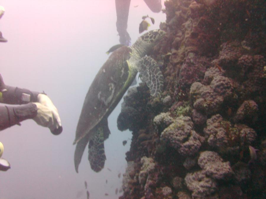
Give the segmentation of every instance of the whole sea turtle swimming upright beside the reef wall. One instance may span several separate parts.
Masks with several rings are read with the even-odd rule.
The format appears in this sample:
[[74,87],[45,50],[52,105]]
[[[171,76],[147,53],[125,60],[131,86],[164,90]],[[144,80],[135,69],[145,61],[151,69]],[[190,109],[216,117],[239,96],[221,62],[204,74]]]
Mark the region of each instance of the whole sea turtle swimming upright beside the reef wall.
[[131,47],[122,46],[115,50],[100,68],[87,92],[77,124],[73,143],[77,143],[74,154],[76,172],[88,142],[91,168],[95,172],[103,168],[106,159],[103,142],[110,134],[107,118],[138,71],[150,88],[151,96],[161,93],[163,75],[157,62],[146,55],[164,34],[160,29],[143,34]]

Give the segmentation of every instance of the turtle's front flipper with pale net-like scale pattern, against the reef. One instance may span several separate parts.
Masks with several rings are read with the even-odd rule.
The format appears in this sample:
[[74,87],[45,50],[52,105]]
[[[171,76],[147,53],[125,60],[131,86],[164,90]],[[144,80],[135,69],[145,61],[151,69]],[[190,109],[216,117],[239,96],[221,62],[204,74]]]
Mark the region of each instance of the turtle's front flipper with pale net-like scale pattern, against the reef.
[[140,76],[150,88],[150,95],[158,96],[163,90],[163,74],[158,63],[151,57],[143,57],[140,60]]

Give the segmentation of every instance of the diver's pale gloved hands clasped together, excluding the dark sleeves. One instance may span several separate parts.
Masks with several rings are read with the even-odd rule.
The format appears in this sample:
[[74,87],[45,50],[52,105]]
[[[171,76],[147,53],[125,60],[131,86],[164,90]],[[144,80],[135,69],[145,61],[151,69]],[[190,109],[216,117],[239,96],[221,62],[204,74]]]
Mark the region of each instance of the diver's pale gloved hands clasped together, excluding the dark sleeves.
[[53,105],[51,99],[45,94],[38,94],[38,102],[35,102],[38,111],[37,116],[33,120],[44,127],[48,127],[52,134],[58,135],[62,132],[63,128],[57,108]]

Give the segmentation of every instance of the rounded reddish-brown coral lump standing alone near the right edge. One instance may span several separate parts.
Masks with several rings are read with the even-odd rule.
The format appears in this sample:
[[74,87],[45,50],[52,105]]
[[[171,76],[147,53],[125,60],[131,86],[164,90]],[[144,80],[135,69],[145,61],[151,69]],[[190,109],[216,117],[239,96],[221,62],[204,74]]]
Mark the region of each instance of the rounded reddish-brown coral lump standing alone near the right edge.
[[244,101],[237,109],[234,122],[246,121],[254,123],[258,119],[258,105],[253,100]]

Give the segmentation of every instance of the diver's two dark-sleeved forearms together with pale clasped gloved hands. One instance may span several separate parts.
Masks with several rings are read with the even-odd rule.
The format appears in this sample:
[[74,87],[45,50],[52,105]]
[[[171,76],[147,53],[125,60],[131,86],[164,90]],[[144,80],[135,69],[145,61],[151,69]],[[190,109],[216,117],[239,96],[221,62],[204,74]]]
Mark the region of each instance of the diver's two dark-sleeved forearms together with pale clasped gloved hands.
[[46,94],[7,86],[4,84],[1,74],[0,102],[24,104],[21,106],[1,106],[0,130],[19,124],[25,119],[33,119],[37,124],[48,127],[55,135],[60,134],[63,130],[57,108]]

